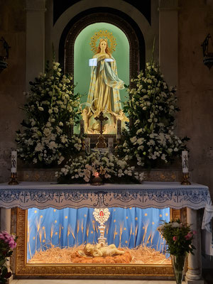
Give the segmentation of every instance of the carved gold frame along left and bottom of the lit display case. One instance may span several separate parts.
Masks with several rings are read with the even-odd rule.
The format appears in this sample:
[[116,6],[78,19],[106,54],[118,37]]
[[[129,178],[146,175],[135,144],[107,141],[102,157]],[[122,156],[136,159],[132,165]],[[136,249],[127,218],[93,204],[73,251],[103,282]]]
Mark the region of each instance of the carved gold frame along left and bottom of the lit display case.
[[158,278],[172,279],[171,265],[141,265],[141,264],[28,264],[27,263],[27,210],[17,209],[17,247],[16,247],[16,276],[22,278]]

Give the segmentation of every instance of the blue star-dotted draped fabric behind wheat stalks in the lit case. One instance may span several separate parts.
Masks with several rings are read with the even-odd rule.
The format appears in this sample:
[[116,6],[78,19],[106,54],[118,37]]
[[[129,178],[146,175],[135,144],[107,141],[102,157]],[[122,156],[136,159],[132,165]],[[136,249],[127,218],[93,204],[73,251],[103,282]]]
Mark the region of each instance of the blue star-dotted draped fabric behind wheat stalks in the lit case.
[[[99,223],[93,208],[28,209],[28,260],[40,249],[97,243]],[[165,252],[165,241],[156,230],[170,220],[170,209],[109,208],[105,236],[108,244],[130,249],[143,245]]]

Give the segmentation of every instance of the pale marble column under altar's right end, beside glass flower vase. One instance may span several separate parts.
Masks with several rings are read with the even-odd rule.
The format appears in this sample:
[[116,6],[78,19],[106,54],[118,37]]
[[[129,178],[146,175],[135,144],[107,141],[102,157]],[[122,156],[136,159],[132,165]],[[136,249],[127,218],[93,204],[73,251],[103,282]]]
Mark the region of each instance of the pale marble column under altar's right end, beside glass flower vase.
[[188,271],[185,282],[187,284],[204,284],[202,280],[201,246],[200,246],[200,218],[197,210],[187,208],[187,223],[191,224],[192,231],[197,231],[192,244],[195,246],[194,256],[190,253],[188,256]]

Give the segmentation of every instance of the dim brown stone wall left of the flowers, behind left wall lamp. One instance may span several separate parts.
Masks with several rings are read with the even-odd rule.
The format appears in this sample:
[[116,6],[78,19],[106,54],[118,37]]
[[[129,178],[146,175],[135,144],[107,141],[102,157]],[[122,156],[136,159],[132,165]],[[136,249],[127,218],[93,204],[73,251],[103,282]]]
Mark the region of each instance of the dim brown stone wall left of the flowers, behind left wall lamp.
[[11,147],[23,119],[25,89],[25,0],[0,0],[0,37],[9,43],[8,67],[0,73],[0,182],[9,180]]

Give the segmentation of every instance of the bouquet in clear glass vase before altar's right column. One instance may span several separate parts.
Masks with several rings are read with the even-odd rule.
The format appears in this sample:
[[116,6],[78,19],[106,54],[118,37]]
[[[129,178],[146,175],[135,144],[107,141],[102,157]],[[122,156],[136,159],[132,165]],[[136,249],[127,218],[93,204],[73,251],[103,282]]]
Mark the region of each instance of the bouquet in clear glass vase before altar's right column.
[[158,226],[158,231],[166,241],[167,251],[170,253],[173,263],[176,283],[181,284],[185,259],[187,254],[193,254],[195,249],[192,240],[196,232],[191,230],[190,224],[182,224],[180,219],[171,222],[164,221],[162,225]]

